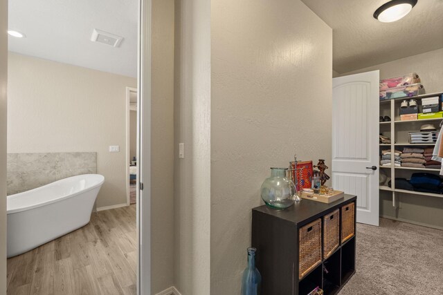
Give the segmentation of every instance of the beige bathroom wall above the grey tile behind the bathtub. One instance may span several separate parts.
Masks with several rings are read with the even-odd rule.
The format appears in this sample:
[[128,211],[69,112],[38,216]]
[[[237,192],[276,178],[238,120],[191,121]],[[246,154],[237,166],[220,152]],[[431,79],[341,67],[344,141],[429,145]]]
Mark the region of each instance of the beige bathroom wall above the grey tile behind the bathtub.
[[8,61],[8,153],[97,152],[97,207],[125,203],[126,87],[136,79],[15,53]]

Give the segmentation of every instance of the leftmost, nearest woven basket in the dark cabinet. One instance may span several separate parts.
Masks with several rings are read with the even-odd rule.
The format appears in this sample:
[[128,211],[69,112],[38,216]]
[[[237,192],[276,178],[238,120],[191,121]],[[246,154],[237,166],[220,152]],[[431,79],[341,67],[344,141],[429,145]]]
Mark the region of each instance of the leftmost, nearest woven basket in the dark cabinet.
[[321,263],[321,219],[300,227],[298,231],[298,278]]

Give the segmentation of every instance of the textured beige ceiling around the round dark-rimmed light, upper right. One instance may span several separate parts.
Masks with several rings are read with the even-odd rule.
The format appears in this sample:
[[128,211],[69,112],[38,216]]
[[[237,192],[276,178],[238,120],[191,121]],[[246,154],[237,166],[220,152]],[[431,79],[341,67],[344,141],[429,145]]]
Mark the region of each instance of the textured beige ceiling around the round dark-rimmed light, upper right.
[[338,73],[443,48],[443,0],[418,0],[406,17],[392,23],[372,17],[388,0],[302,1],[333,29]]

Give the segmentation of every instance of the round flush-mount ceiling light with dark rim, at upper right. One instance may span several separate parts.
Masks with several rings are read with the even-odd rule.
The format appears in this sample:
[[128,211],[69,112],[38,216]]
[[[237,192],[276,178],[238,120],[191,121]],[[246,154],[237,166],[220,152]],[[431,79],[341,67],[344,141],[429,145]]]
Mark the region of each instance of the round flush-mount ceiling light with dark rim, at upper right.
[[417,0],[392,0],[384,3],[374,12],[374,18],[382,23],[398,21],[405,17],[417,4]]

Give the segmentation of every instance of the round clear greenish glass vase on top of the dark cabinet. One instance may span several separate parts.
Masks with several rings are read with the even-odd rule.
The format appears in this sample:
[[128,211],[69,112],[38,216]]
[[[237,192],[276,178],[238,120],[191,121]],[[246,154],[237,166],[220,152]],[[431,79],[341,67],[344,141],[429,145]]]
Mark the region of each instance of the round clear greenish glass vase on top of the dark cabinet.
[[271,177],[266,178],[260,189],[266,206],[272,209],[286,209],[295,202],[296,187],[286,177],[287,168],[271,168]]

